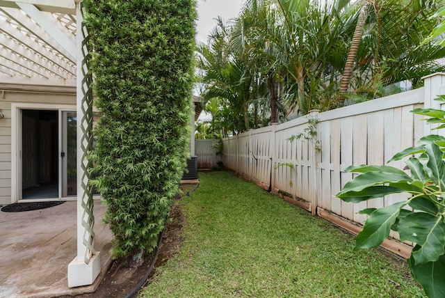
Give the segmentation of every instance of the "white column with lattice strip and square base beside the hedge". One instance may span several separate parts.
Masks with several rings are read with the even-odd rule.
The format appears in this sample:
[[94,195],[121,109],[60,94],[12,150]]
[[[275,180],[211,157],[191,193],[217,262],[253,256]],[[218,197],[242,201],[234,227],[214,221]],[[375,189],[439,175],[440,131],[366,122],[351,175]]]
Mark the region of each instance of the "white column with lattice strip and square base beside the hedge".
[[92,147],[92,76],[88,72],[88,32],[83,26],[81,0],[76,0],[77,18],[77,256],[68,265],[68,286],[91,285],[100,273],[100,254],[95,251],[94,206],[88,185],[88,151]]

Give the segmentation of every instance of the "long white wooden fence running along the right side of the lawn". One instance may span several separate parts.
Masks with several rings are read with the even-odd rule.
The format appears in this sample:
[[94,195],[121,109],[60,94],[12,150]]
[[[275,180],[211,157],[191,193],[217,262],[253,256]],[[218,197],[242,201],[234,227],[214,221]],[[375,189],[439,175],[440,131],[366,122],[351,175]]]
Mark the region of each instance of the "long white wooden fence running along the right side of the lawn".
[[[359,210],[391,205],[402,201],[405,194],[359,204],[343,202],[335,194],[353,178],[344,169],[352,164],[386,164],[396,152],[416,145],[422,136],[431,133],[423,117],[410,111],[441,108],[433,99],[445,94],[445,74],[424,79],[425,87],[414,91],[310,113],[309,117],[318,119],[316,140],[321,141],[321,150],[309,140],[289,141],[308,127],[308,118],[301,117],[224,139],[224,165],[264,189],[357,233],[357,224],[366,220],[366,215],[357,213]],[[391,165],[405,166],[403,162]],[[409,256],[398,246],[392,250]]]

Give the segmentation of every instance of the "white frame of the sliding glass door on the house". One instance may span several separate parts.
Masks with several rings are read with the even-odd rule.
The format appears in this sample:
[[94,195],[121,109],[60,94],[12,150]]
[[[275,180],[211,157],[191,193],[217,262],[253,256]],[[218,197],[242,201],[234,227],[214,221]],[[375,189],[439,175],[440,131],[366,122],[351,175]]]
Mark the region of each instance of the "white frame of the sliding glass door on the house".
[[[51,201],[53,199],[39,199],[39,200],[22,200],[22,110],[48,110],[58,111],[58,152],[62,152],[62,115],[63,111],[76,112],[76,104],[38,104],[32,102],[13,102],[11,103],[11,203],[20,201]],[[58,199],[62,196],[62,171],[63,164],[62,157],[58,155]],[[76,199],[76,197],[69,197]]]

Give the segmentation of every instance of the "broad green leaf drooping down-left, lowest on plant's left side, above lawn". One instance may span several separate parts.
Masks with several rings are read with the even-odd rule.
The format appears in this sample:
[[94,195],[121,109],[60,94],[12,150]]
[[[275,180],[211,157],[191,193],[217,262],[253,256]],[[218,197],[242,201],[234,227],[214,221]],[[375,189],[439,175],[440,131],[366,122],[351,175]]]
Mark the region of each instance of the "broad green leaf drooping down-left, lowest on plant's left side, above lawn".
[[357,235],[355,249],[372,249],[382,244],[405,205],[406,202],[398,202],[372,212]]

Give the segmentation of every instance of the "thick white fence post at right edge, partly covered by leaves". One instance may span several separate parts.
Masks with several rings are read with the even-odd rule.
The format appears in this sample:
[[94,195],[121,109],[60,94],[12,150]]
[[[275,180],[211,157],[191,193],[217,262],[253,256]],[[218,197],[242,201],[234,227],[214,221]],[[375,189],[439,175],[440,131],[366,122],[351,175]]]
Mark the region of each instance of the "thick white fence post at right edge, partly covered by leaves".
[[[445,94],[445,73],[437,72],[422,79],[425,82],[425,95],[423,97],[424,109],[442,109],[442,104],[434,99],[437,98],[438,95]],[[425,136],[428,134],[438,134],[437,130],[432,130],[437,127],[438,124],[427,124],[426,121],[423,122],[425,123]]]

